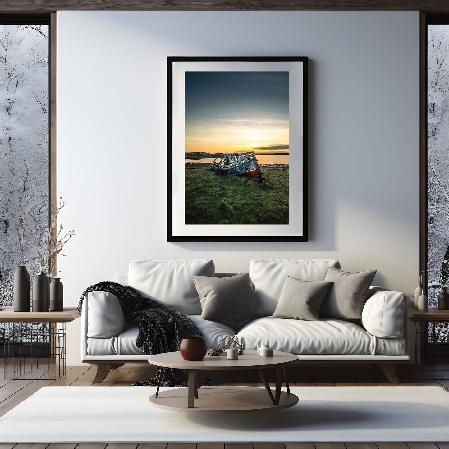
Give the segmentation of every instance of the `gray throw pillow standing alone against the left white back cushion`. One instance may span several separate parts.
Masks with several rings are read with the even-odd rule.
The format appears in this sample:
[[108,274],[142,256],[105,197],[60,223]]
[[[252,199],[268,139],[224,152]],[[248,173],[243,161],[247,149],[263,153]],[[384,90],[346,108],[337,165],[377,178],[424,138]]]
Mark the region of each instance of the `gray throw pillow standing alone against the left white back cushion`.
[[248,273],[232,277],[194,276],[203,320],[249,320],[259,317]]

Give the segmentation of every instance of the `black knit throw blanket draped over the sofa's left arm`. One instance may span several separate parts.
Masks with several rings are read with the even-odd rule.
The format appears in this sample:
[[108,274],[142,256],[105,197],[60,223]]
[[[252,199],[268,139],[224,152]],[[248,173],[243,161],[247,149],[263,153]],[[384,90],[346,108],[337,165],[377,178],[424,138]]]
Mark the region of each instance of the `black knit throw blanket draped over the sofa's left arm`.
[[[88,287],[79,299],[78,313],[81,313],[85,295],[92,291],[106,291],[117,296],[127,321],[139,323],[137,348],[148,355],[179,351],[183,337],[202,337],[194,322],[183,313],[177,312],[150,298],[145,298],[136,289],[117,282],[98,282]],[[136,382],[133,386],[154,387],[157,385],[159,368],[154,379]],[[161,379],[164,387],[186,387],[186,370],[165,368]],[[209,383],[209,382],[205,382]]]

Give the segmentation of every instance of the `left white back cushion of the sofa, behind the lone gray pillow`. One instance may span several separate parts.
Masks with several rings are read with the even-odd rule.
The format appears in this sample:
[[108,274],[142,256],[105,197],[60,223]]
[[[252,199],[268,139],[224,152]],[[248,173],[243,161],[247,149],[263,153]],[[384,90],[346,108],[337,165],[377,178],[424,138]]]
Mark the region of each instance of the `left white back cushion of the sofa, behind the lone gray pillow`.
[[129,285],[142,295],[186,315],[201,315],[201,304],[192,276],[214,276],[211,259],[132,260]]

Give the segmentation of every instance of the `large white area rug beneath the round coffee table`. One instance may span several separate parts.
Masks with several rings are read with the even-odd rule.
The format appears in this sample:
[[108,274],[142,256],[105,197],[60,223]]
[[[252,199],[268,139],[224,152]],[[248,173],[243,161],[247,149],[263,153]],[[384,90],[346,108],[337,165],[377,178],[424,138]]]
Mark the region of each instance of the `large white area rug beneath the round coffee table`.
[[297,405],[255,414],[158,409],[148,401],[154,392],[154,387],[44,387],[0,418],[0,441],[449,440],[449,393],[443,387],[292,387]]

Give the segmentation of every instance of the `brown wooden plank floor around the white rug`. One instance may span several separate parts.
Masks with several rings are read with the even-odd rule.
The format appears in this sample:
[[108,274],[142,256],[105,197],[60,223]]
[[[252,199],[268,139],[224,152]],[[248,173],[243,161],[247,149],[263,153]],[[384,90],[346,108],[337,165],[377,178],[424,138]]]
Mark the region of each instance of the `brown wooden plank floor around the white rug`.
[[[447,380],[418,379],[409,373],[407,366],[400,367],[401,383],[389,383],[385,376],[374,366],[301,366],[290,370],[291,385],[302,386],[442,386],[449,391]],[[0,416],[24,401],[42,387],[78,386],[78,387],[122,387],[137,380],[152,379],[153,367],[145,365],[124,365],[111,370],[102,383],[92,385],[96,367],[73,366],[67,368],[66,377],[52,380],[3,380],[3,363],[0,364]],[[263,386],[255,371],[247,371],[245,378],[223,377],[214,379],[227,385]],[[269,379],[270,380],[270,379]],[[1,436],[0,436],[1,440]],[[0,449],[449,449],[449,443],[70,443],[70,444],[1,444]]]

